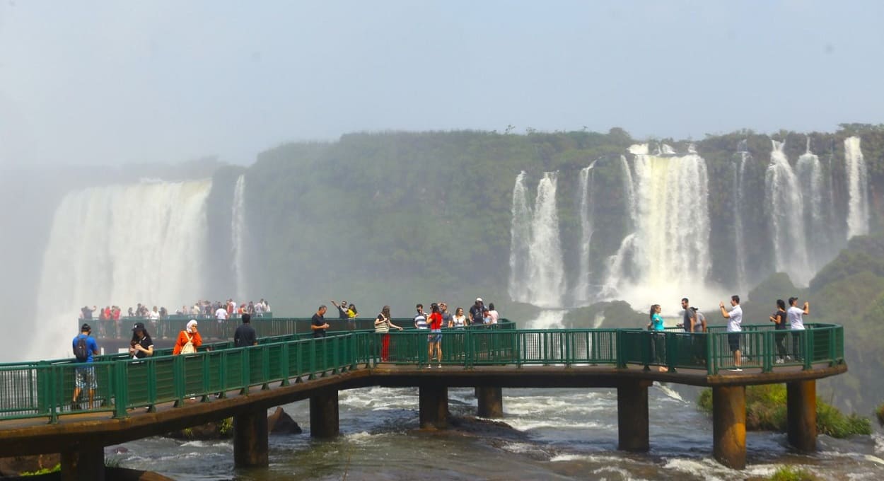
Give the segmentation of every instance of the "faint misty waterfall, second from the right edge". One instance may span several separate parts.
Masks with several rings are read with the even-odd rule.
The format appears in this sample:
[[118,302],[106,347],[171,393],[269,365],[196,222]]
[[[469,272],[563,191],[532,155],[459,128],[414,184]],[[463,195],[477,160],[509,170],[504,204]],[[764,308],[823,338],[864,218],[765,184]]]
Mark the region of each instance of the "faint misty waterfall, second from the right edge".
[[828,238],[830,226],[823,210],[823,168],[819,157],[811,152],[810,138],[807,139],[807,150],[798,157],[795,171],[803,192],[802,220],[808,263],[815,272],[831,260],[832,246]]

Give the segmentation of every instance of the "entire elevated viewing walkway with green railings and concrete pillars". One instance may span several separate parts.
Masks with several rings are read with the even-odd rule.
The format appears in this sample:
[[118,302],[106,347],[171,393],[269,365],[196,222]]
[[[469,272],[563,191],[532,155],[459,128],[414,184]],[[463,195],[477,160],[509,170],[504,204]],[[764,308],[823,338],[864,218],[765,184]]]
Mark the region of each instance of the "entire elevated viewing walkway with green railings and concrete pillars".
[[[288,322],[252,324],[277,329],[271,324],[278,321]],[[201,332],[203,324],[210,321],[200,323]],[[391,332],[387,353],[384,334],[345,330],[324,338],[267,336],[255,347],[214,342],[193,355],[156,349],[137,360],[97,356],[92,406],[85,394],[79,404],[71,402],[82,363],[0,364],[0,452],[62,453],[62,470],[70,475],[65,478],[100,479],[103,447],[232,416],[234,463],[262,466],[268,462],[268,408],[309,399],[311,436],[331,438],[339,432],[339,391],[367,386],[418,387],[420,424],[429,429],[447,425],[449,387],[475,387],[477,414],[484,417],[503,415],[502,388],[616,388],[618,447],[640,452],[650,447],[648,387],[665,381],[713,389],[713,455],[743,469],[745,386],[786,384],[789,442],[810,452],[816,449],[816,379],[847,371],[843,328],[834,324],[785,332],[744,326],[738,372],[728,370],[734,356],[728,332],[718,328],[523,330],[505,321],[444,330],[443,358],[432,363],[428,333]],[[777,363],[777,336],[783,333],[789,358]]]

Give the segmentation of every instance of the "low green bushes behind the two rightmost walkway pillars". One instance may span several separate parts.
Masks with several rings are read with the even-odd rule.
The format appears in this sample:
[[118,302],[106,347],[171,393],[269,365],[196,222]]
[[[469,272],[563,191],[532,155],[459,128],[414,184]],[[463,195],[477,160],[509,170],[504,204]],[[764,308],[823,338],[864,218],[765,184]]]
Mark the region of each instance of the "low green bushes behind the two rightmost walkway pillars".
[[[700,392],[697,406],[706,413],[712,413],[712,389]],[[771,384],[746,387],[747,431],[786,431],[786,423],[786,386]],[[844,416],[838,408],[817,398],[817,432],[833,438],[868,435],[872,434],[872,424],[863,416]]]

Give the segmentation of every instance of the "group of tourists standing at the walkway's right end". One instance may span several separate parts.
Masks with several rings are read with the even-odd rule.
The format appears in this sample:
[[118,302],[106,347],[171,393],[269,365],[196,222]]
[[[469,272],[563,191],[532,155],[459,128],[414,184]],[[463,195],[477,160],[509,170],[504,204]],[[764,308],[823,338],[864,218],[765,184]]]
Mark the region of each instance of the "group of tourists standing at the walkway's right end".
[[[729,309],[725,307],[723,301],[719,302],[719,309],[721,317],[728,319],[728,348],[734,355],[734,367],[730,370],[740,372],[742,371],[740,366],[743,362],[743,355],[740,349],[740,332],[743,332],[743,308],[740,307],[740,296],[736,294],[730,296]],[[653,304],[651,306],[649,312],[651,322],[647,325],[648,330],[654,332],[662,332],[665,330],[663,317],[660,316],[660,311],[661,308],[659,304]],[[776,331],[804,331],[804,316],[809,316],[810,314],[810,302],[804,302],[804,305],[799,308],[798,298],[789,297],[789,308],[787,309],[785,301],[777,299],[776,310],[773,311],[773,314],[768,317],[768,319],[774,324],[774,329]],[[682,323],[676,324],[676,327],[682,328],[685,332],[707,332],[708,328],[706,317],[696,307],[690,306],[690,301],[687,297],[682,297]],[[792,361],[793,358],[796,360],[801,358],[799,336],[792,336],[791,354],[789,354],[789,350],[786,347],[786,336],[786,332],[776,332],[774,335],[777,350],[777,357],[774,363],[782,364]],[[663,354],[665,345],[661,340],[662,338],[659,337],[652,338],[651,344],[652,356],[658,362],[665,359],[665,355]],[[697,342],[693,342],[693,346],[699,347],[701,345]],[[667,370],[667,368],[663,366],[660,366],[658,369],[660,371]]]

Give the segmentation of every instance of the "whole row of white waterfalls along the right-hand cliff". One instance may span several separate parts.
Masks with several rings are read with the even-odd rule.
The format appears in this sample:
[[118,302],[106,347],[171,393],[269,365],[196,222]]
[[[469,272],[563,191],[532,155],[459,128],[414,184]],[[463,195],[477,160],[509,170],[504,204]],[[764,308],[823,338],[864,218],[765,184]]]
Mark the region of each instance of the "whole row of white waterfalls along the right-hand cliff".
[[[763,202],[766,223],[762,224],[766,224],[769,236],[769,240],[761,241],[769,241],[773,248],[773,266],[763,267],[766,273],[787,272],[796,285],[806,285],[847,239],[868,232],[867,173],[859,139],[846,139],[849,199],[846,227],[842,227],[835,214],[831,158],[829,164],[822,163],[808,142],[806,152],[793,167],[783,147],[781,142],[773,141],[770,163],[764,172],[764,199],[758,200]],[[726,194],[732,202],[729,215],[716,219],[721,228],[732,233],[728,244],[734,246],[733,257],[721,263],[728,265],[725,275],[719,276],[724,279],[721,286],[709,280],[713,223],[704,158],[692,148],[676,154],[667,145],[651,153],[646,144],[632,146],[629,157],[631,163],[627,156],[620,158],[622,215],[628,227],[619,248],[606,254],[604,262],[593,258],[598,252],[593,246],[599,233],[594,209],[596,162],[583,168],[576,179],[580,240],[565,252],[556,204],[558,172],[545,172],[537,181],[533,203],[529,174],[517,176],[508,286],[514,301],[545,308],[587,305],[605,299],[644,305],[689,294],[718,296],[734,289],[745,293],[759,280],[751,279],[747,268],[747,243],[757,244],[759,239],[754,234],[747,237],[746,219],[761,214],[760,209],[749,207],[754,200],[744,194],[752,162],[748,151],[741,147],[737,152],[733,178],[726,185],[732,191]],[[593,272],[593,265],[602,265],[602,271]]]

